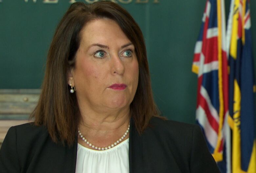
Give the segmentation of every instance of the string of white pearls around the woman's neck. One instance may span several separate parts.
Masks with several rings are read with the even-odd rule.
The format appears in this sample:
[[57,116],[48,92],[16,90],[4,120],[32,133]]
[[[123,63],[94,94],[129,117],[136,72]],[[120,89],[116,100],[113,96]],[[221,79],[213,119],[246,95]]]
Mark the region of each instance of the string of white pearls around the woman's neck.
[[113,144],[111,144],[110,146],[108,147],[97,147],[95,145],[93,145],[92,143],[90,143],[84,136],[83,134],[81,133],[81,131],[78,129],[78,136],[87,144],[89,145],[89,147],[92,147],[93,149],[97,149],[97,150],[106,150],[106,149],[109,149],[109,148],[112,148],[114,146],[116,146],[117,144],[119,144],[126,136],[127,134],[129,133],[130,131],[130,124],[127,128],[127,130],[125,131],[125,133],[116,141],[114,142]]

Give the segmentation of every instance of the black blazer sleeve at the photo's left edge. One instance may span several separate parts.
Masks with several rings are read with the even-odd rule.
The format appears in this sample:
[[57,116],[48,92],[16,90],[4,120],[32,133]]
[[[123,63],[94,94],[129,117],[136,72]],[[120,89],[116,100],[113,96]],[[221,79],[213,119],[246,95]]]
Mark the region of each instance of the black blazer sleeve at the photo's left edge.
[[11,127],[4,139],[0,149],[0,172],[18,173],[20,172],[17,156],[16,129]]

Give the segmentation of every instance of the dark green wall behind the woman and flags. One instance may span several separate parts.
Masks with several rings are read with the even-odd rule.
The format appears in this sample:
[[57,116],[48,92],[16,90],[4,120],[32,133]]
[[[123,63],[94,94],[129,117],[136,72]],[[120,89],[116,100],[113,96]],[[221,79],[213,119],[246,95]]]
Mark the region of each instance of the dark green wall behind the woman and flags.
[[[43,0],[0,0],[0,89],[40,88],[47,51],[69,1],[46,4]],[[169,119],[194,123],[197,75],[191,72],[191,64],[206,1],[136,1],[119,4],[143,31],[157,105]],[[251,1],[254,41],[255,16],[256,2]],[[256,57],[256,42],[253,48]]]

